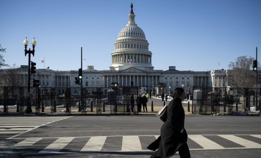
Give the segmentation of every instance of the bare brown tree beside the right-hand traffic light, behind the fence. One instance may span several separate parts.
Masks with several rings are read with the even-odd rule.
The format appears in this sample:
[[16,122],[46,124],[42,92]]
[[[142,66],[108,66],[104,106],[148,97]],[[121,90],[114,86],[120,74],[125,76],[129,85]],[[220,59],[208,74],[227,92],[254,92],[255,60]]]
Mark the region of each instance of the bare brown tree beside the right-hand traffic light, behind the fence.
[[237,88],[254,87],[255,72],[252,70],[253,66],[252,57],[240,56],[237,57],[235,62],[230,62],[229,68],[229,82],[232,86]]

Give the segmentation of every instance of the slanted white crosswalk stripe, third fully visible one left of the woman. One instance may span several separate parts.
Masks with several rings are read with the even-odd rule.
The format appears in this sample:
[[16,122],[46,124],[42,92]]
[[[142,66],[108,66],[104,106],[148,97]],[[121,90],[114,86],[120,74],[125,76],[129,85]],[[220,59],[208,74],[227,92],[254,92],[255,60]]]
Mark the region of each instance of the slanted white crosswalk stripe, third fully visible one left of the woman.
[[68,143],[70,143],[74,138],[73,137],[65,137],[59,138],[48,147],[44,148],[43,150],[39,151],[39,153],[51,153],[51,152],[59,152],[62,150]]

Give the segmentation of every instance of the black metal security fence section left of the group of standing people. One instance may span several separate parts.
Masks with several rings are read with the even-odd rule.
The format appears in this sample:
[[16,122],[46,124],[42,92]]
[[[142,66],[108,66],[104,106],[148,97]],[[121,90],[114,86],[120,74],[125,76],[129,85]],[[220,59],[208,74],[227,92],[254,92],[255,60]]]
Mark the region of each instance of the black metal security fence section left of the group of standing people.
[[[132,114],[130,97],[134,95],[137,112],[138,87],[0,87],[0,114]],[[28,100],[30,98],[30,100]]]

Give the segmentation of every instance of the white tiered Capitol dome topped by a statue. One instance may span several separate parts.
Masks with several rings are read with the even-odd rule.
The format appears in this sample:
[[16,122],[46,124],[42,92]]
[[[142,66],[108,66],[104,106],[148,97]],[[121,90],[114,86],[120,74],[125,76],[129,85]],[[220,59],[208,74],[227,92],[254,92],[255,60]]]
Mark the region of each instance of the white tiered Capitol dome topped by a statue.
[[153,70],[151,63],[152,53],[145,33],[135,24],[135,14],[131,12],[128,24],[119,32],[111,53],[112,64],[110,70],[125,70],[135,67],[139,70]]

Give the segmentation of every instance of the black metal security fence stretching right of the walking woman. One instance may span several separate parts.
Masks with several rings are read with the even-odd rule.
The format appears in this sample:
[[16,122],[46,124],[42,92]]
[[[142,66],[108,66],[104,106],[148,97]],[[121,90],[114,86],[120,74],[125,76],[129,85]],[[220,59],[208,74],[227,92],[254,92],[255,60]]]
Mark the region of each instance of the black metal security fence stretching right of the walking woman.
[[[260,89],[193,87],[192,114],[234,114],[260,109]],[[259,110],[260,112],[260,110]]]

